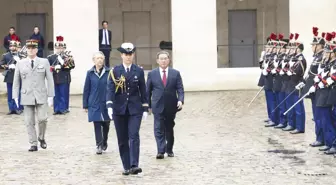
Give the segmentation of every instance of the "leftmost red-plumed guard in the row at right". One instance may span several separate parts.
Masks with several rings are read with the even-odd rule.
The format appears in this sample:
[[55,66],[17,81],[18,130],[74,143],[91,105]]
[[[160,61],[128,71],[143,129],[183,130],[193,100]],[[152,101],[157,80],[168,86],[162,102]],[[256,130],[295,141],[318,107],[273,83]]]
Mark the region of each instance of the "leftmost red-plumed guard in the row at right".
[[273,75],[271,73],[272,69],[274,68],[274,61],[276,60],[276,45],[277,45],[277,35],[272,33],[270,35],[270,43],[271,43],[271,48],[270,48],[270,56],[267,59],[267,62],[265,63],[264,69],[262,71],[262,74],[264,75],[264,89],[265,89],[265,95],[266,95],[266,105],[267,105],[267,110],[269,112],[269,118],[270,120],[265,126],[268,125],[275,125],[276,123],[276,117],[274,116],[275,114],[272,113],[272,110],[275,108],[275,94],[273,92]]

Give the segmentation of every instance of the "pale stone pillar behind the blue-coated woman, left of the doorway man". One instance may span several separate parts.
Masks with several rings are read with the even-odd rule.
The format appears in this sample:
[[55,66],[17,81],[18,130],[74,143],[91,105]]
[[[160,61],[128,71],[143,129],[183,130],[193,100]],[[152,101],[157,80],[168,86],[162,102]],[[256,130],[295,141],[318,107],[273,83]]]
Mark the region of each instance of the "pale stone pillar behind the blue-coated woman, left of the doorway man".
[[74,56],[71,94],[82,94],[86,71],[98,51],[98,0],[53,0],[54,41],[61,35]]

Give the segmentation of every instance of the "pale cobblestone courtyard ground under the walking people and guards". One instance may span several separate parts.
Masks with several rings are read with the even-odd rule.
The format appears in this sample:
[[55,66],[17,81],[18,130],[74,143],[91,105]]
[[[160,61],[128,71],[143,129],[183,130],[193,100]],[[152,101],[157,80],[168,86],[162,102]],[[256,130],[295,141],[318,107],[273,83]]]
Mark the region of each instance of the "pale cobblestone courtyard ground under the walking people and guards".
[[[93,126],[71,98],[71,113],[50,116],[47,150],[29,153],[23,116],[7,116],[0,103],[0,184],[335,184],[336,158],[308,147],[314,140],[311,108],[307,132],[291,135],[265,128],[264,96],[250,109],[256,91],[187,93],[177,116],[175,158],[156,160],[153,117],[142,123],[138,176],[122,176],[116,134],[109,149],[95,154]],[[50,110],[51,113],[52,110]]]

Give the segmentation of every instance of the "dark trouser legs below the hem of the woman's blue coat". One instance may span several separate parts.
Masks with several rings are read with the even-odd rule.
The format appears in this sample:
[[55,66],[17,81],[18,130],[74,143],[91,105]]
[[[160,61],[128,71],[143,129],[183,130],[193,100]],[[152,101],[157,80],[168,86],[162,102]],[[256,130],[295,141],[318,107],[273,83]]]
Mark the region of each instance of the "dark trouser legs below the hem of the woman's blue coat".
[[107,144],[108,133],[110,131],[109,121],[95,121],[93,122],[95,136],[96,136],[96,146],[102,146]]

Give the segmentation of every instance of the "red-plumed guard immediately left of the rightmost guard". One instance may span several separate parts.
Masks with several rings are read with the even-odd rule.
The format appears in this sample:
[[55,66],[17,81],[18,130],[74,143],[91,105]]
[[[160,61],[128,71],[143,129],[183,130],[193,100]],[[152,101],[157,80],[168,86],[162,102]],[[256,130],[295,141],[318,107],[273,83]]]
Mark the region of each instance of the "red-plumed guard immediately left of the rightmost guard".
[[[322,33],[322,36],[319,36],[318,28],[313,27],[313,41],[312,51],[313,51],[313,61],[310,64],[310,68],[308,71],[308,75],[305,77],[304,82],[297,86],[297,89],[302,88],[302,94],[306,94],[309,92],[309,89],[314,85],[314,78],[318,74],[317,70],[319,65],[322,63],[323,59],[323,48],[325,44],[324,36],[325,33]],[[321,117],[317,118],[316,116],[316,96],[315,93],[310,93],[306,98],[311,99],[313,118],[315,122],[315,135],[316,139],[313,143],[310,144],[311,147],[320,147],[324,145],[324,134],[321,124]],[[319,113],[320,114],[320,113]]]

